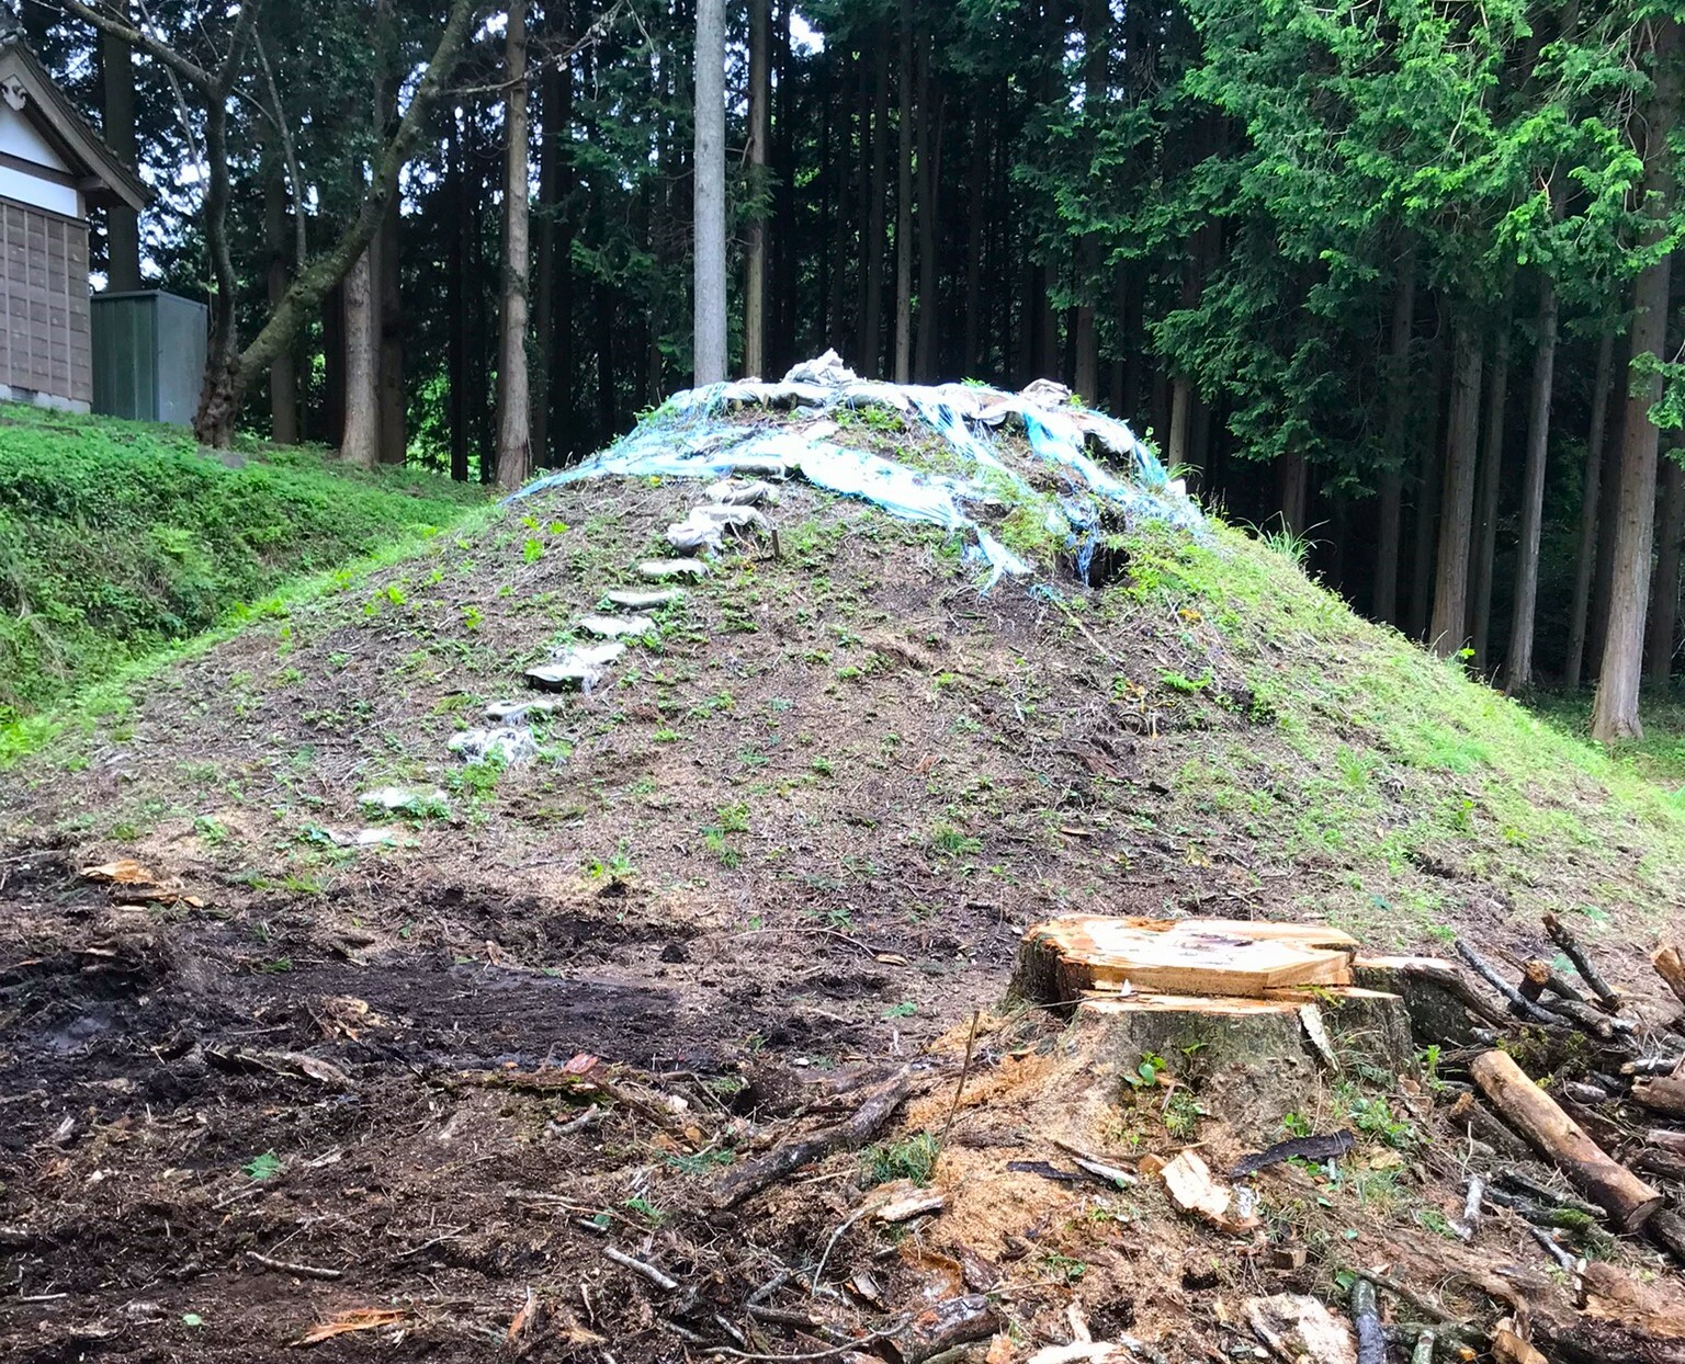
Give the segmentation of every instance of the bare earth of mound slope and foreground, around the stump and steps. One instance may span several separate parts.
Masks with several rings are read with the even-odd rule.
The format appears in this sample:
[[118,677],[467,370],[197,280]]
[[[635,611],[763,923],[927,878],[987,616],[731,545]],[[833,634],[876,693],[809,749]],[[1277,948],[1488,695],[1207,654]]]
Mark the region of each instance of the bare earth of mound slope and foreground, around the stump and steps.
[[[362,1308],[389,1315],[322,1349],[487,1357],[529,1292],[507,1347],[534,1357],[829,1357],[800,1275],[858,1206],[859,1157],[735,1209],[723,1170],[913,1064],[873,1160],[922,1174],[1031,921],[1309,914],[1523,953],[1557,909],[1640,982],[1680,909],[1663,791],[1222,529],[1131,535],[1099,589],[1053,571],[1056,594],[979,594],[942,532],[789,487],[780,556],[723,556],[539,726],[536,759],[450,758],[694,502],[534,497],[72,712],[0,775],[8,1357],[275,1359]],[[388,785],[425,798],[359,847],[357,798]],[[126,903],[78,874],[116,857],[172,889]],[[1215,1357],[1225,1293],[1324,1281],[1329,1248],[1439,1239],[1454,1212],[1431,1103],[1397,1076],[1318,1086],[1308,1120],[1367,1115],[1375,1164],[1289,1184],[1282,1234],[1323,1253],[1260,1278],[1161,1196],[1008,1170],[1045,1086],[1080,1076],[1053,1020],[981,1032],[935,1180],[998,1206],[841,1238],[819,1315],[866,1344],[992,1273],[1024,1345],[1070,1339],[1077,1295],[1097,1335]],[[1085,1138],[1255,1140],[1154,1108]],[[1538,1273],[1518,1226],[1493,1234]],[[839,1298],[859,1271],[871,1292]]]

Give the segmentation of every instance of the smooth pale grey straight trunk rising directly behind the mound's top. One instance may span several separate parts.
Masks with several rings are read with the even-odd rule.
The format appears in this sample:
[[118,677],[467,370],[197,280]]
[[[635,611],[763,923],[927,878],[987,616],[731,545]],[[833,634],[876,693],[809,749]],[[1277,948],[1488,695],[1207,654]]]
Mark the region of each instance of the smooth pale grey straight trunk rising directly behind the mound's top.
[[696,0],[696,342],[698,386],[726,377],[726,13]]

